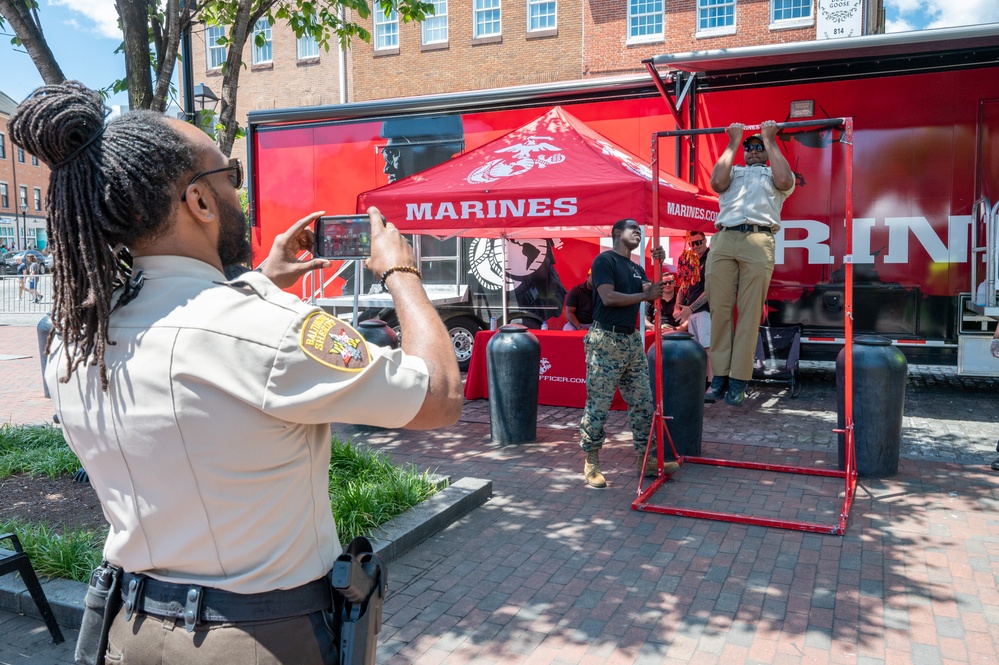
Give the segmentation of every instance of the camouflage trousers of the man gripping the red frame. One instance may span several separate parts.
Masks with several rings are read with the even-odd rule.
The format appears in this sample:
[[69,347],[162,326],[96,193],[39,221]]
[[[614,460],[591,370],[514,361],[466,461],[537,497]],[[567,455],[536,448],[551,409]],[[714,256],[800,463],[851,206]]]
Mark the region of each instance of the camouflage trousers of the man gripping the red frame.
[[589,452],[604,445],[604,424],[614,390],[628,404],[635,450],[644,451],[652,428],[652,389],[642,336],[590,328],[586,348],[586,408],[579,423],[580,445]]

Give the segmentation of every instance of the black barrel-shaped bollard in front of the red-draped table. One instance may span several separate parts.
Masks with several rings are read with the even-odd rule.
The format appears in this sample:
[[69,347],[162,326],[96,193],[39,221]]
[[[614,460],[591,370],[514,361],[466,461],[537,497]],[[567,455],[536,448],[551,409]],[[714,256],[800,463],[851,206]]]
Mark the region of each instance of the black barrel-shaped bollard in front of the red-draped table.
[[538,375],[541,344],[526,326],[500,326],[486,345],[489,430],[496,443],[538,438]]

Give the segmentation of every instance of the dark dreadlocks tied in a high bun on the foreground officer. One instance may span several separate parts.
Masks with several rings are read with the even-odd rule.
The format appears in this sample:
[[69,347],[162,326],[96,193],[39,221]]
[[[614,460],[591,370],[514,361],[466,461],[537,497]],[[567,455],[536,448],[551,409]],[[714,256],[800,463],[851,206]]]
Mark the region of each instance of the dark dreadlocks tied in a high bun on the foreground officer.
[[33,92],[10,117],[11,141],[51,169],[46,231],[53,253],[53,335],[64,342],[66,373],[104,364],[111,300],[128,278],[113,247],[167,230],[180,180],[198,150],[159,113],[126,113],[105,126],[99,93],[77,81]]

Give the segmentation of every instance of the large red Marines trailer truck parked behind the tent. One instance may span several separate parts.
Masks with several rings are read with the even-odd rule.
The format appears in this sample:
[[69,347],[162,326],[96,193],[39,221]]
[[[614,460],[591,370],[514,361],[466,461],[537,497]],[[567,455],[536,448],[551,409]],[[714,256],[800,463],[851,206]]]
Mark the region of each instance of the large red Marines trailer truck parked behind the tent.
[[[252,112],[257,260],[302,214],[353,212],[362,192],[474,150],[556,105],[644,160],[657,131],[852,117],[854,246],[846,260],[854,264],[854,330],[890,338],[910,362],[999,375],[988,353],[999,317],[999,25],[665,55],[648,66],[655,76]],[[781,138],[798,182],[776,237],[768,322],[802,324],[802,357],[832,359],[844,305],[842,137]],[[724,142],[662,143],[660,166],[706,187]],[[608,224],[615,219],[608,211]],[[512,318],[561,325],[566,287],[585,279],[600,249],[586,240],[522,240],[504,279],[494,240],[419,236],[415,246],[462,360],[474,333],[500,315],[504,284]],[[680,251],[682,239],[673,238],[670,256]],[[364,316],[391,320],[388,296],[366,293],[372,280],[359,279]],[[327,274],[302,294],[343,307],[351,286],[349,271]]]

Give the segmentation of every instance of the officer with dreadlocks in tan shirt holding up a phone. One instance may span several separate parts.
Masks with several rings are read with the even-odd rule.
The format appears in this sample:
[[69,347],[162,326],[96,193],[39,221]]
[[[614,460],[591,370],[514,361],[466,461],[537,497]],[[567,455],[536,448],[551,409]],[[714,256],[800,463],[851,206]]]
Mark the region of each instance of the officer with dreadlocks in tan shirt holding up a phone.
[[9,126],[51,168],[45,381],[123,571],[106,653],[336,662],[329,422],[426,429],[461,409],[412,249],[372,209],[368,268],[404,335],[401,350],[367,344],[279,288],[326,265],[295,258],[320,213],[277,239],[263,274],[227,281],[223,266],[249,259],[238,161],[159,114],[104,119],[100,95],[71,82],[37,90]]

